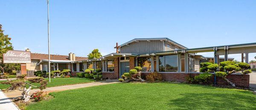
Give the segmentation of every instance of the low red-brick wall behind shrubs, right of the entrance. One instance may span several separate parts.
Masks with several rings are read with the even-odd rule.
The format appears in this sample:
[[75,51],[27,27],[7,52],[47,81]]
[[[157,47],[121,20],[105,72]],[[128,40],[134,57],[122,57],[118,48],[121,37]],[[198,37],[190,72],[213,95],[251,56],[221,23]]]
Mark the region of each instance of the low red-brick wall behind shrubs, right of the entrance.
[[[143,77],[150,73],[143,73]],[[199,75],[200,73],[160,73],[163,74],[163,80],[165,81],[176,81],[176,82],[185,82],[186,77],[191,74],[192,77]],[[239,87],[249,87],[250,84],[250,75],[249,74],[230,74],[227,76],[227,79],[235,83]],[[211,82],[214,82],[214,75],[212,75]],[[230,85],[221,77],[216,77],[217,85]]]

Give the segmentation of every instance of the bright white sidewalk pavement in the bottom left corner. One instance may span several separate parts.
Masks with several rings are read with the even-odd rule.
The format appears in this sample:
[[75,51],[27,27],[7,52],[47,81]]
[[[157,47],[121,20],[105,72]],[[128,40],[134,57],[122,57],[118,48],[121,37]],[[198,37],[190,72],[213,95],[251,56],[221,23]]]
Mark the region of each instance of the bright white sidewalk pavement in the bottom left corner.
[[0,90],[0,110],[19,110],[15,104]]

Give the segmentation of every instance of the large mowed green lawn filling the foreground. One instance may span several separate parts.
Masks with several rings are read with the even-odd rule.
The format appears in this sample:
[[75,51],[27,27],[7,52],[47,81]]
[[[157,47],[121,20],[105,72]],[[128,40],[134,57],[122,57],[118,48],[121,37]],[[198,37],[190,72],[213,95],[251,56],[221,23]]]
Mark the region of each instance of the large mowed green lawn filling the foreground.
[[251,91],[175,83],[119,83],[50,93],[26,110],[256,110]]

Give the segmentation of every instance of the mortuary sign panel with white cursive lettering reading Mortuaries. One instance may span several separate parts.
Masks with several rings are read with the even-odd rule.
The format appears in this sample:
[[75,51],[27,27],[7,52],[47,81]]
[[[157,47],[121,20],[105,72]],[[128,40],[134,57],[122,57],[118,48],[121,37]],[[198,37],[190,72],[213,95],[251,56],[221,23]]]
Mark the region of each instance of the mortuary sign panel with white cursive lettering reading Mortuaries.
[[30,52],[9,50],[3,54],[3,63],[31,63]]

